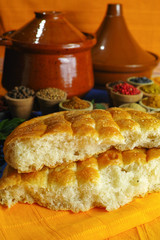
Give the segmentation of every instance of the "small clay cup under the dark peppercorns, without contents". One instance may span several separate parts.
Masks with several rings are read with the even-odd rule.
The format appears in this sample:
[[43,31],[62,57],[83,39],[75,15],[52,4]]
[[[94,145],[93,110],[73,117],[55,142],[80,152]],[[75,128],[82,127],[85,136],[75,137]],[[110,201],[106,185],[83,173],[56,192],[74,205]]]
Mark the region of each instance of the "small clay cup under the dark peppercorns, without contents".
[[29,119],[34,105],[34,97],[24,99],[15,99],[5,95],[5,100],[8,104],[9,112],[12,117]]

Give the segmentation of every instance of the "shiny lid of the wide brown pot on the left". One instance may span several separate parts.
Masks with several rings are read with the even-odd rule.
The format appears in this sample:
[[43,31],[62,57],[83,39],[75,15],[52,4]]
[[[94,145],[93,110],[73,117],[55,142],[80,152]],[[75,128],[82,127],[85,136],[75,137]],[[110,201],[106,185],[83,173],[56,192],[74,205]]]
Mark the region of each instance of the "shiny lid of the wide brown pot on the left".
[[[95,44],[95,39],[72,25],[57,11],[35,12],[35,18],[10,36],[13,44],[42,48],[80,48]],[[90,47],[90,46],[89,46]]]

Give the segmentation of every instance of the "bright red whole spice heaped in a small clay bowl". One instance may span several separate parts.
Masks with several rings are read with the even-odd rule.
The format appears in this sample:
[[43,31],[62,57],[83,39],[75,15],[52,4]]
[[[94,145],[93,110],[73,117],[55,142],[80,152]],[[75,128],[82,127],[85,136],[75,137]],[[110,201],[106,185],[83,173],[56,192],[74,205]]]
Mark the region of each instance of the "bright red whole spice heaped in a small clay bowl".
[[119,83],[113,87],[114,92],[118,92],[124,95],[137,95],[140,90],[128,83]]

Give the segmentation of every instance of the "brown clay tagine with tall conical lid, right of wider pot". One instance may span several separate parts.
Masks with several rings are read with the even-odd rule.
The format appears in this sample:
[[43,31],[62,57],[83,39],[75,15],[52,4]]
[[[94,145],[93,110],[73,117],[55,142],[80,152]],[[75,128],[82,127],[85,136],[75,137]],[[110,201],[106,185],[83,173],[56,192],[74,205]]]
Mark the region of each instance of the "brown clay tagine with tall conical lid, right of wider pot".
[[143,50],[127,28],[121,4],[109,4],[92,49],[94,77],[97,86],[107,82],[126,81],[132,76],[150,78],[159,57]]

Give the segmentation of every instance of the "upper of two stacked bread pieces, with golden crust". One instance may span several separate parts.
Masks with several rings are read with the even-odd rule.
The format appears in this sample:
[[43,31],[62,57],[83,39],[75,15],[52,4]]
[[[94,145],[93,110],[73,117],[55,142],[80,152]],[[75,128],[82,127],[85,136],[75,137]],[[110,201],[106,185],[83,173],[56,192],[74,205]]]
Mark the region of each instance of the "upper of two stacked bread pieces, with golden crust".
[[18,126],[6,139],[6,162],[18,172],[84,160],[111,147],[160,146],[160,119],[135,110],[111,108],[59,112]]

